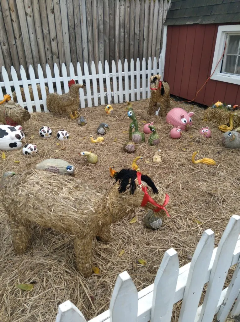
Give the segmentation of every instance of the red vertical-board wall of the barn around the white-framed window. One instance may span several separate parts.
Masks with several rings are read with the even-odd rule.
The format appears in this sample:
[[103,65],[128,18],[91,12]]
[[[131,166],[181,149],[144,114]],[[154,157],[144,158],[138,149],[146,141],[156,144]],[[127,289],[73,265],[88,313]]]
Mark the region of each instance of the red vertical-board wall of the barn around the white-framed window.
[[[192,100],[211,74],[219,24],[167,26],[164,81],[171,94]],[[240,86],[209,79],[195,102],[240,105]]]

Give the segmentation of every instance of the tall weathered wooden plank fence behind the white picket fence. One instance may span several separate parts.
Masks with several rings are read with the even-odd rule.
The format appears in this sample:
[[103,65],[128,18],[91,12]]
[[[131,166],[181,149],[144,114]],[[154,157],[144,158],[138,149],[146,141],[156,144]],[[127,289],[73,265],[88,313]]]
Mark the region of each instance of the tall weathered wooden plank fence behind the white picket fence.
[[[122,64],[154,57],[159,59],[163,23],[169,0],[0,0],[0,81],[2,66],[11,76],[11,66],[20,77],[22,65],[35,73],[38,65],[112,60]],[[153,67],[153,66],[152,66]],[[118,71],[118,65],[116,66]],[[111,65],[110,65],[111,71]],[[60,76],[62,76],[60,71]],[[12,79],[10,79],[12,80]]]

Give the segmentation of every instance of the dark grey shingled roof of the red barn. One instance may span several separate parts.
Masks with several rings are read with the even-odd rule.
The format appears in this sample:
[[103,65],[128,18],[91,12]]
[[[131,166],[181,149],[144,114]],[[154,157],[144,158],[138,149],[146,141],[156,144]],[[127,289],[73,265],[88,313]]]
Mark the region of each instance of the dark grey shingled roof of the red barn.
[[164,24],[240,22],[240,0],[171,0]]

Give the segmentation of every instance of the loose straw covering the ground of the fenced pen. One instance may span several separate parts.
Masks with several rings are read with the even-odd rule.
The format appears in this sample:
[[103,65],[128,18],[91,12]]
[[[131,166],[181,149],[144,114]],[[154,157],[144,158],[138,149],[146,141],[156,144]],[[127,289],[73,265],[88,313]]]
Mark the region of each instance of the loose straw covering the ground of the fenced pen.
[[[100,274],[84,279],[75,268],[71,236],[59,235],[51,229],[35,227],[31,249],[22,256],[16,256],[8,218],[0,208],[0,321],[54,321],[58,305],[67,299],[88,320],[109,308],[111,293],[120,272],[127,270],[140,290],[154,282],[167,249],[173,247],[178,252],[182,266],[191,260],[205,229],[211,228],[215,232],[218,245],[230,216],[239,213],[240,209],[239,150],[227,150],[221,145],[222,133],[203,120],[203,109],[173,101],[171,107],[179,106],[193,111],[195,115],[191,130],[184,132],[179,140],[171,139],[171,126],[165,123],[165,118],[147,115],[148,103],[148,99],[133,102],[133,109],[141,130],[143,121],[155,122],[162,138],[158,147],[150,147],[146,140],[138,145],[134,154],[123,152],[130,124],[127,104],[124,103],[113,105],[113,116],[106,115],[104,107],[84,109],[82,115],[88,122],[84,127],[77,125],[76,120],[50,113],[33,113],[25,123],[25,139],[27,143],[36,144],[39,153],[24,156],[22,149],[5,152],[6,158],[0,160],[0,175],[8,170],[19,173],[46,158],[62,158],[76,166],[76,177],[103,190],[114,181],[109,175],[109,166],[114,165],[116,170],[130,167],[136,156],[142,156],[143,160],[138,162],[140,169],[146,170],[170,196],[171,218],[159,230],[151,231],[144,226],[144,210],[139,209],[113,225],[108,244],[94,241],[93,262],[100,269]],[[96,128],[100,122],[110,126],[105,143],[90,143],[89,135],[97,137]],[[38,131],[44,125],[52,128],[52,138],[39,137]],[[200,137],[202,126],[211,127],[211,138]],[[64,143],[56,139],[57,131],[62,128],[70,135]],[[148,139],[148,135],[146,137]],[[158,148],[162,151],[160,164],[152,161]],[[89,150],[99,158],[96,165],[87,163],[78,155]],[[198,158],[213,158],[217,165],[192,164],[191,156],[196,150],[200,150]],[[130,223],[135,215],[137,222]],[[147,264],[139,264],[139,259]],[[20,283],[33,283],[34,287],[31,291],[22,291],[15,287]],[[173,321],[177,321],[179,307],[178,303]]]

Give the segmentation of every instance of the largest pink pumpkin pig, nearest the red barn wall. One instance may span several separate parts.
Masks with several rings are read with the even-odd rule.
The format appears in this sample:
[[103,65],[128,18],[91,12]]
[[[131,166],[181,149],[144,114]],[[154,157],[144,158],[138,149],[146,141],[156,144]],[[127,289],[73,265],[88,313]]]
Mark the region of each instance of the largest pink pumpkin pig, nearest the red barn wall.
[[180,126],[181,130],[185,130],[186,125],[192,125],[192,115],[194,115],[193,112],[188,113],[180,107],[175,107],[167,113],[166,122],[176,127]]

